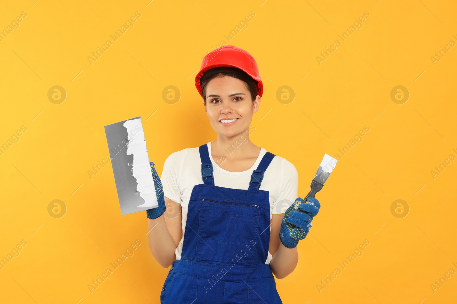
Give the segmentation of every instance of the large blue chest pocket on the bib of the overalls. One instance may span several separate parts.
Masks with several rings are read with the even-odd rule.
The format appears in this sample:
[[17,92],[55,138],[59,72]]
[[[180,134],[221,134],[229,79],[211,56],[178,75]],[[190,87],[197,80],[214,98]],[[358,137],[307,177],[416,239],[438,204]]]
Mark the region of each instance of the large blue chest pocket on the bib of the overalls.
[[201,201],[197,261],[224,266],[253,265],[260,207],[255,204]]

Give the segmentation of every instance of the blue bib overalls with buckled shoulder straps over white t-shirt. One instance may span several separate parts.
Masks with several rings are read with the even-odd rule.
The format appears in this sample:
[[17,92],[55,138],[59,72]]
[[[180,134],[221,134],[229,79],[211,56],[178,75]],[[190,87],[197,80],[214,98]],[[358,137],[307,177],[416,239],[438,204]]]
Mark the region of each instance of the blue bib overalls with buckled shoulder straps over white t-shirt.
[[214,185],[207,144],[199,147],[204,184],[192,189],[181,259],[173,261],[161,304],[282,303],[269,264],[270,199],[259,190],[267,152],[248,190]]

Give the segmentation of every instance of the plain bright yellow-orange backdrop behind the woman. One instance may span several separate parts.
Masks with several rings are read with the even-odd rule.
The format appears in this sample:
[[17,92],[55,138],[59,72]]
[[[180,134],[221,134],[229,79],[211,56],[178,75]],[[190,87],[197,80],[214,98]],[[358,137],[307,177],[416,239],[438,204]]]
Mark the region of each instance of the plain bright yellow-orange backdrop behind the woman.
[[[341,156],[317,195],[322,207],[299,242],[297,268],[276,280],[283,302],[455,303],[455,273],[439,289],[430,285],[457,271],[456,160],[431,173],[457,156],[456,46],[430,57],[457,42],[456,9],[430,0],[3,3],[0,30],[27,16],[0,41],[0,144],[8,147],[0,258],[27,244],[0,269],[2,303],[159,303],[168,269],[149,251],[145,212],[121,216],[111,164],[92,178],[88,171],[108,154],[104,126],[137,116],[159,175],[172,152],[214,140],[193,78],[221,41],[258,62],[265,90],[250,139],[295,165],[298,195],[324,153]],[[137,11],[133,28],[90,64]],[[335,40],[340,46],[319,64]],[[63,102],[48,99],[56,85]],[[391,99],[399,85],[406,102]],[[168,86],[175,99],[162,97]],[[48,212],[53,200],[64,216]],[[396,200],[404,202],[391,211]],[[136,240],[134,255],[91,293],[88,284]],[[341,268],[364,240],[363,254]],[[319,292],[335,268],[340,274]]]

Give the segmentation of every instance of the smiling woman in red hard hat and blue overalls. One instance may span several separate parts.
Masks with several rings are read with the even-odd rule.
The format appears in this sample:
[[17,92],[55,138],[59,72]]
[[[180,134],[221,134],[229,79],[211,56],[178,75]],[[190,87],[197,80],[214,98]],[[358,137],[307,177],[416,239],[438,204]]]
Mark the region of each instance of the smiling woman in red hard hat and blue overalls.
[[195,82],[217,139],[172,153],[161,179],[151,162],[159,207],[147,210],[149,248],[171,264],[161,303],[282,303],[273,273],[296,267],[319,201],[295,199],[294,165],[249,140],[263,86],[248,52],[208,53]]

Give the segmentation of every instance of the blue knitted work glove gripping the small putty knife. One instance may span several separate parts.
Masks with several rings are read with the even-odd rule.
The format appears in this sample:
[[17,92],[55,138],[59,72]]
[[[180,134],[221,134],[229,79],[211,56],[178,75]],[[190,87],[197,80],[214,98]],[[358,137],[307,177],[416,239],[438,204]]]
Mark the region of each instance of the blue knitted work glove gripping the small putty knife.
[[[295,202],[287,208],[282,218],[279,239],[287,248],[294,248],[299,240],[303,240],[313,226],[311,221],[319,212],[320,203],[314,197],[308,197],[307,202],[298,197]],[[309,214],[303,212],[309,212]]]

